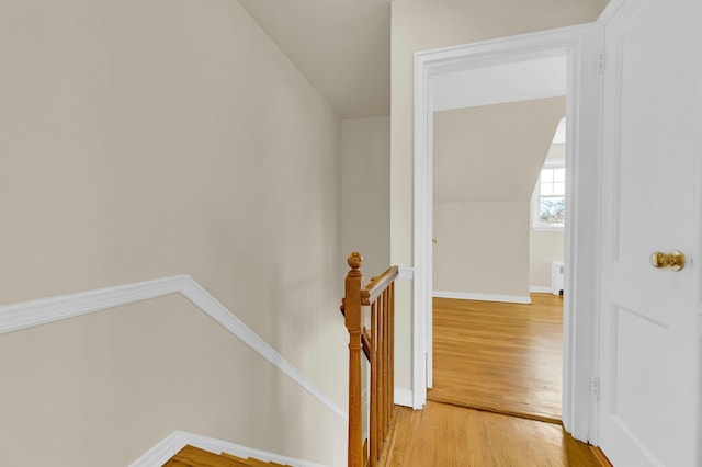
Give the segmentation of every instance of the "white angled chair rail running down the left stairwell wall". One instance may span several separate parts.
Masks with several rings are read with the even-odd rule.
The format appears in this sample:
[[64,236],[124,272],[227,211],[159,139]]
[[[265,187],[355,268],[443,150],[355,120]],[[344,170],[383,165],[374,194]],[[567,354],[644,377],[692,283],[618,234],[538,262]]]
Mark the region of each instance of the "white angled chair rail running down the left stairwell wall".
[[295,368],[189,275],[4,305],[0,307],[0,334],[174,293],[188,298],[223,328],[297,383],[299,387],[343,420],[348,420],[347,412],[327,397],[307,376]]

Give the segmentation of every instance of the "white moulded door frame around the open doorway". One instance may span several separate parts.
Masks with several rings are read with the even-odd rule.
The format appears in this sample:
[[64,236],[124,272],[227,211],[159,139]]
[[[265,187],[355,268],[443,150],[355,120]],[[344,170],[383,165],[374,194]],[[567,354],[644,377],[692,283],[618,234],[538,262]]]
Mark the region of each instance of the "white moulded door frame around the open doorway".
[[415,54],[412,406],[431,387],[432,105],[431,77],[510,61],[565,55],[567,83],[568,225],[565,231],[563,423],[597,442],[597,306],[599,303],[599,171],[601,153],[601,25],[551,31]]

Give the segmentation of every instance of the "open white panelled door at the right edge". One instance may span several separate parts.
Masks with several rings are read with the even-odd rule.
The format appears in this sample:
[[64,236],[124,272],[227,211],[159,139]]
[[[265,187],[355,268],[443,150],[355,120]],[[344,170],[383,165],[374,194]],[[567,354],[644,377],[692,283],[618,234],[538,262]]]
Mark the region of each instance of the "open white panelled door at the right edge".
[[702,0],[626,0],[604,41],[599,444],[700,466]]

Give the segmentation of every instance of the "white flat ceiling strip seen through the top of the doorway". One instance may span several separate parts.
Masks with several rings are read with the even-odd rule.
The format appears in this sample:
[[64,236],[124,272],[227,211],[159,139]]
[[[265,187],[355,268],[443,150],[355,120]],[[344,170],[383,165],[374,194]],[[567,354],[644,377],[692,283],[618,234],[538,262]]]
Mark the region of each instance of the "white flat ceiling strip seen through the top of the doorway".
[[566,57],[454,71],[432,78],[433,109],[475,107],[566,94]]

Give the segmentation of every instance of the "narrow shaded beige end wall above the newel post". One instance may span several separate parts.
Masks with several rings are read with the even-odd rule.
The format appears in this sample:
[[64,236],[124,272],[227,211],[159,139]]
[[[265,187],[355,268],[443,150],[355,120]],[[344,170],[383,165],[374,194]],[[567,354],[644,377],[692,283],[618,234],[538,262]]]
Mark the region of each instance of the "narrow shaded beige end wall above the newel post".
[[390,261],[390,119],[344,119],[341,140],[340,258],[361,252],[362,270],[370,278]]

